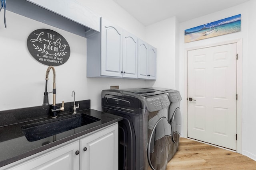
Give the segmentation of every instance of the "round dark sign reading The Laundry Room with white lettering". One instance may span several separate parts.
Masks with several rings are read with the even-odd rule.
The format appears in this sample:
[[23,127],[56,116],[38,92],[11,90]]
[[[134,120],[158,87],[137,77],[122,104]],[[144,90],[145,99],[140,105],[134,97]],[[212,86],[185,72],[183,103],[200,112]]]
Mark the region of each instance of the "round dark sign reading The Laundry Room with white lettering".
[[36,61],[48,66],[64,64],[70,56],[66,39],[50,29],[37,29],[30,33],[27,46]]

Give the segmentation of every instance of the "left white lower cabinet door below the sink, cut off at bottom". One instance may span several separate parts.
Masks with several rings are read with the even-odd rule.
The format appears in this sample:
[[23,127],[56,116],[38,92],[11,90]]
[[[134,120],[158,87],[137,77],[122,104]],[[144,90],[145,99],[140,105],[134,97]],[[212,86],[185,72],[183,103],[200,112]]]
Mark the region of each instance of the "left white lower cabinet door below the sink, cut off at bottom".
[[46,152],[30,160],[22,162],[9,170],[79,170],[79,141]]

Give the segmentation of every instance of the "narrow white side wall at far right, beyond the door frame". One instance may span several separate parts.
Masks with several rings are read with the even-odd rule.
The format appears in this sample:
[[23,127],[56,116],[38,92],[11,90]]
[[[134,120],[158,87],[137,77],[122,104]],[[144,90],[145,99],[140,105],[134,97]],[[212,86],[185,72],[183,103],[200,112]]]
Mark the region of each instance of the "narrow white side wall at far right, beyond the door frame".
[[[256,160],[256,35],[255,35],[255,16],[256,1],[248,2],[248,43],[244,45],[243,50],[247,55],[243,56],[243,112],[242,112],[242,153]],[[245,28],[246,31],[246,28]]]

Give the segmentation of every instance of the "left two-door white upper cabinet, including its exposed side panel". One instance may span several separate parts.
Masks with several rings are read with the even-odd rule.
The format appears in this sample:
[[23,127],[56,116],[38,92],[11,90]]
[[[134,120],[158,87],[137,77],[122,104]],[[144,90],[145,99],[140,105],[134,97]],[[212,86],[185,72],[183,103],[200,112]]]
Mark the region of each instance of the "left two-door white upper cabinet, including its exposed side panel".
[[138,38],[103,19],[101,36],[87,38],[87,77],[99,76],[138,77]]

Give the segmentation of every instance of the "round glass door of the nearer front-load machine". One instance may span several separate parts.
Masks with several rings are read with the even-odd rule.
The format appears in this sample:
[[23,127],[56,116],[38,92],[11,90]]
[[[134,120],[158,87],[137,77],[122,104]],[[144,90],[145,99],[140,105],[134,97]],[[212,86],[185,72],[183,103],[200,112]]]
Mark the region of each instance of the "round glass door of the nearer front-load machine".
[[150,168],[153,170],[166,169],[172,142],[171,133],[171,126],[165,117],[159,118],[158,115],[155,115],[148,121],[147,154]]

